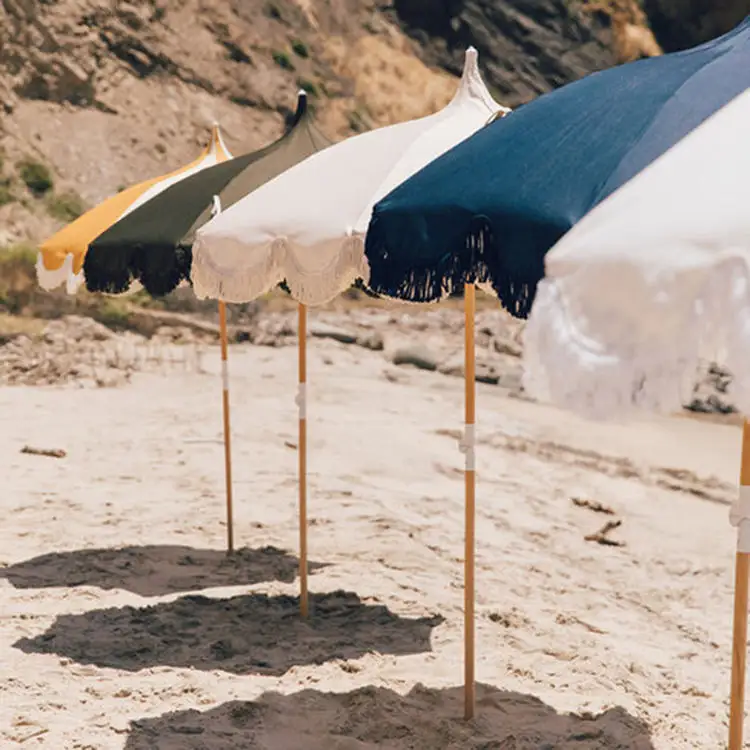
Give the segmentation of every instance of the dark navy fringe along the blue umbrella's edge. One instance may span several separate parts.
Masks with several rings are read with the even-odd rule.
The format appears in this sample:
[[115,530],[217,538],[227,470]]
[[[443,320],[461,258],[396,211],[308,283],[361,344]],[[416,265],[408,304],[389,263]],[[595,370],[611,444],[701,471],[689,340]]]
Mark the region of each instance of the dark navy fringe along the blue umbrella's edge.
[[366,256],[370,289],[377,295],[405,302],[438,302],[462,294],[465,284],[492,291],[516,318],[526,318],[534,301],[537,280],[510,278],[501,249],[485,217],[475,217],[463,247],[448,253],[434,266],[416,266],[402,260],[408,248],[388,246],[388,239],[373,219],[367,234]]

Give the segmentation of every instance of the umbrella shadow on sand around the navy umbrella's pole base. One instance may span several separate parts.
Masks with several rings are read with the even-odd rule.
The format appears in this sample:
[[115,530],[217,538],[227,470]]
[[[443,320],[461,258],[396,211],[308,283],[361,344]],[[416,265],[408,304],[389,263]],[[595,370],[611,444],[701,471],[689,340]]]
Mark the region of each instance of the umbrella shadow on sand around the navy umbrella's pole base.
[[538,698],[477,686],[477,719],[461,688],[417,685],[349,693],[264,693],[210,711],[131,722],[125,750],[653,750],[649,727],[625,709],[559,714]]

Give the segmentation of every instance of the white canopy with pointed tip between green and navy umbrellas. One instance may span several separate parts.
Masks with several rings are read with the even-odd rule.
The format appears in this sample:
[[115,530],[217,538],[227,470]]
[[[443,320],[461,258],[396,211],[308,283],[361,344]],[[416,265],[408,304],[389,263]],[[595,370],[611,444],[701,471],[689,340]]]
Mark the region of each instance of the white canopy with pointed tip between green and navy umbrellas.
[[200,229],[196,294],[243,302],[285,279],[300,302],[332,299],[367,276],[363,237],[373,204],[498,110],[470,49],[458,91],[443,110],[331,146]]

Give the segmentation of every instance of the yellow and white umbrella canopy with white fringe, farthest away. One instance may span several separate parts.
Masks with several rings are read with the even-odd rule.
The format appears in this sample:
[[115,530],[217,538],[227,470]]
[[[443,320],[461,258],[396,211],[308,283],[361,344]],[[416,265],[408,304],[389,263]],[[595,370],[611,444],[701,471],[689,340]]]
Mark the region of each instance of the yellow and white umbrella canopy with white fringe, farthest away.
[[67,283],[68,291],[75,291],[83,281],[81,269],[86,249],[95,237],[128,211],[178,180],[230,158],[229,150],[215,125],[209,144],[195,161],[174,172],[126,188],[79,216],[40,246],[36,266],[40,286],[54,289]]

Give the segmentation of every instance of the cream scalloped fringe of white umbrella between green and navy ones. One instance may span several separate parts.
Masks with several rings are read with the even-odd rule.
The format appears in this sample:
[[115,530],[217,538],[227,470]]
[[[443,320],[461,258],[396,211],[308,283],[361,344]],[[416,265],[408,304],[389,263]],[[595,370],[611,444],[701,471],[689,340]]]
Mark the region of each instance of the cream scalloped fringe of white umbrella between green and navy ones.
[[[220,252],[220,251],[219,251]],[[303,249],[300,252],[314,252]],[[304,305],[322,305],[346,291],[357,279],[367,284],[369,269],[359,236],[347,237],[331,263],[318,271],[300,267],[294,249],[277,239],[263,252],[263,260],[242,268],[218,268],[199,237],[193,245],[191,278],[199,299],[250,302],[284,283],[292,297]]]

